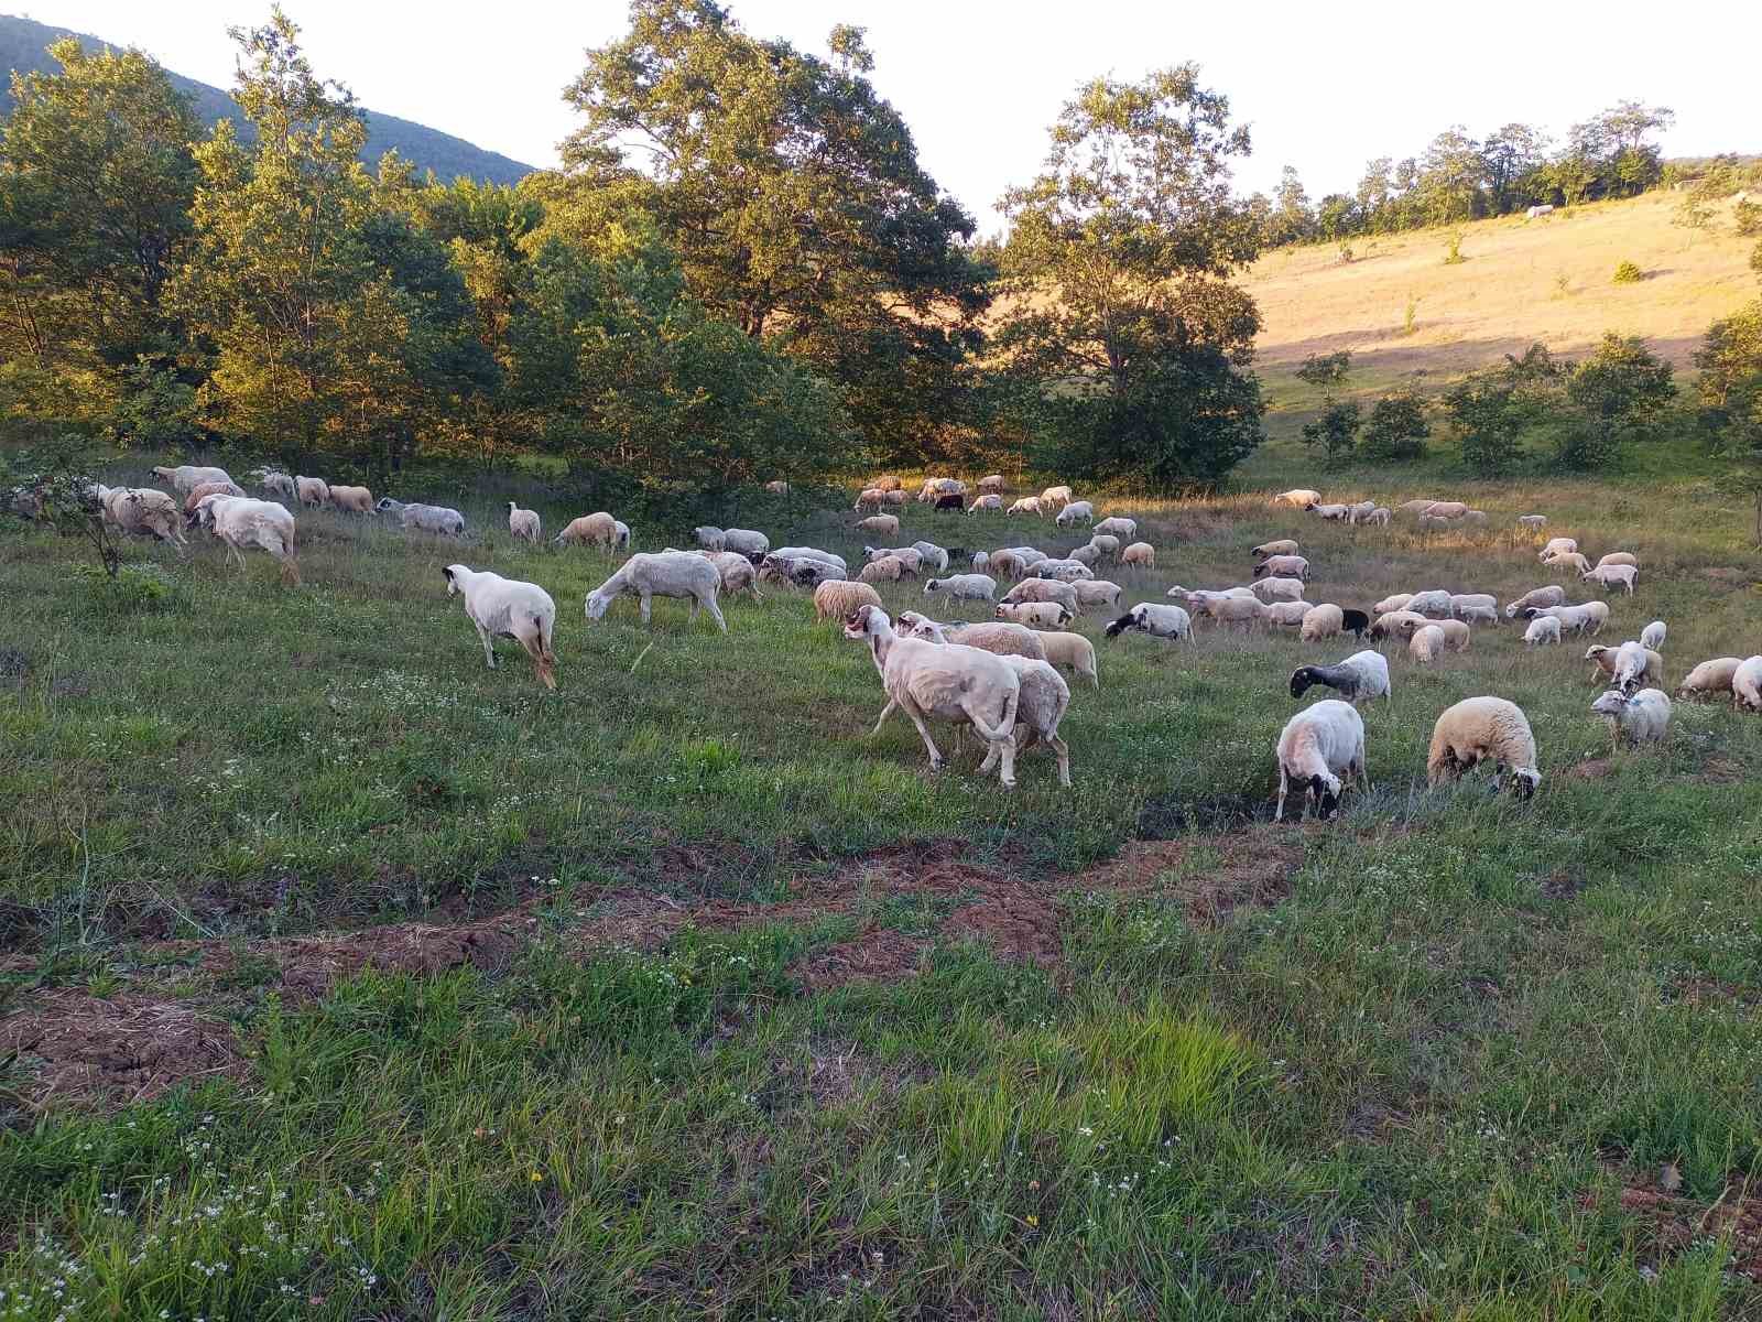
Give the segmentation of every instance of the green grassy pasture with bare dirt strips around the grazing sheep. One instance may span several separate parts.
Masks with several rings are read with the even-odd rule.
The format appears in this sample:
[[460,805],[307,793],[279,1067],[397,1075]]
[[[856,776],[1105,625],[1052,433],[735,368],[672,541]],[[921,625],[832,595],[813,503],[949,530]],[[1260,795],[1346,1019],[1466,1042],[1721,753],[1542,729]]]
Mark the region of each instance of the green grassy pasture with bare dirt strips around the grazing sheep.
[[[1757,649],[1748,511],[1466,499],[1482,541],[1144,506],[1121,582],[1288,534],[1311,599],[1507,599],[1551,582],[1503,532],[1542,511],[1646,566],[1600,642],[1667,619],[1672,684]],[[1762,1310],[1757,717],[1679,703],[1610,756],[1582,642],[1482,629],[1394,659],[1373,793],[1274,827],[1286,677],[1353,645],[1087,617],[1075,788],[1031,753],[1003,795],[865,737],[869,657],[803,594],[590,626],[610,557],[467,515],[465,548],[303,516],[298,589],[137,545],[113,590],[0,527],[0,1318]],[[552,590],[559,693],[483,666],[455,559]],[[1475,693],[1535,724],[1528,806],[1424,788]]]

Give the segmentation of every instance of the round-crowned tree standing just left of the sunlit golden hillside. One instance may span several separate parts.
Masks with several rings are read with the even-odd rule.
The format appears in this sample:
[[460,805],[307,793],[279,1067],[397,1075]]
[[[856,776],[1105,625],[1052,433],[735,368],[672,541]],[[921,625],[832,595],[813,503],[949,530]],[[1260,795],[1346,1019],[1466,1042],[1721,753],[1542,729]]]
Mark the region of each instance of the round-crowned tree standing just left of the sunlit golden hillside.
[[1040,176],[1004,194],[1017,296],[997,347],[1071,476],[1202,486],[1260,442],[1258,382],[1239,370],[1260,314],[1230,284],[1258,250],[1230,190],[1247,152],[1195,65],[1094,79]]

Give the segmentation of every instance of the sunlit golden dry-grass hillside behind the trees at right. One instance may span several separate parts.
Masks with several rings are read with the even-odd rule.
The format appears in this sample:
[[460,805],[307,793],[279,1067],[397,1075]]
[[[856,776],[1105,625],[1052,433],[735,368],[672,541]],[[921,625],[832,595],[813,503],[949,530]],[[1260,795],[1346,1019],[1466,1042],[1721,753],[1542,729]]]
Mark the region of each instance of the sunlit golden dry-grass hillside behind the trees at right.
[[[1244,284],[1265,319],[1256,368],[1267,382],[1272,442],[1237,476],[1277,483],[1311,464],[1297,428],[1320,391],[1295,372],[1314,353],[1351,351],[1344,393],[1366,407],[1403,386],[1441,390],[1536,340],[1581,353],[1603,331],[1644,335],[1686,370],[1707,326],[1755,298],[1755,240],[1736,236],[1729,203],[1714,208],[1709,229],[1681,229],[1672,224],[1677,203],[1677,194],[1656,192],[1538,220],[1478,220],[1464,226],[1464,261],[1454,266],[1443,264],[1443,231],[1359,241],[1350,264],[1334,245],[1262,257]],[[1623,261],[1646,279],[1614,284]],[[1415,331],[1404,335],[1410,300]]]

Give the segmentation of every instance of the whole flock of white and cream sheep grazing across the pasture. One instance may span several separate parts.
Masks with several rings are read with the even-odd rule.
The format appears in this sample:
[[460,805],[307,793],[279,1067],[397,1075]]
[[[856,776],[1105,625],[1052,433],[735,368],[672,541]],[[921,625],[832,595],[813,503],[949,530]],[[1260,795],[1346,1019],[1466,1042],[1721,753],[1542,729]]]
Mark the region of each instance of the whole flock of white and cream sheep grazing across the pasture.
[[[106,522],[115,527],[157,536],[183,545],[185,527],[204,527],[227,545],[229,557],[243,564],[247,548],[270,552],[282,564],[284,576],[298,582],[294,516],[270,499],[247,495],[215,467],[153,469],[153,476],[181,497],[181,508],[155,488],[97,486]],[[254,474],[263,490],[300,508],[331,506],[354,513],[393,516],[400,527],[433,534],[460,536],[465,518],[456,509],[428,504],[402,504],[382,499],[374,504],[365,486],[328,485],[319,478],[294,478],[273,471]],[[781,483],[774,490],[786,490]],[[930,758],[943,765],[930,730],[930,719],[971,726],[987,744],[981,774],[997,767],[1003,786],[1015,784],[1015,756],[1034,742],[1045,742],[1057,756],[1059,781],[1070,784],[1070,749],[1059,737],[1059,724],[1070,707],[1070,686],[1059,670],[1068,670],[1099,686],[1094,645],[1070,631],[1089,610],[1119,608],[1121,587],[1096,578],[1103,564],[1151,569],[1156,550],[1138,541],[1133,518],[1115,515],[1096,518],[1089,501],[1073,499],[1070,486],[1052,486],[1040,495],[1020,497],[1003,506],[1004,481],[987,476],[976,497],[967,502],[967,486],[953,478],[929,478],[916,499],[936,509],[962,509],[997,515],[1054,515],[1059,527],[1087,524],[1091,541],[1054,557],[1029,546],[971,552],[960,573],[950,575],[950,553],[929,541],[909,546],[865,546],[865,562],[853,575],[842,555],[816,546],[772,548],[770,539],[752,529],[700,527],[696,550],[666,548],[634,553],[604,583],[587,596],[587,619],[604,617],[618,596],[634,596],[643,622],[650,620],[650,603],[657,596],[691,603],[691,619],[708,612],[717,628],[728,629],[719,596],[747,590],[759,598],[761,582],[807,587],[814,592],[816,617],[842,624],[844,635],[863,642],[872,654],[886,705],[876,723],[879,732],[897,709],[913,721]],[[856,499],[855,509],[865,516],[856,527],[876,539],[899,534],[900,508],[907,494],[897,478],[881,478]],[[1420,527],[1484,525],[1485,515],[1459,501],[1408,501],[1387,509],[1374,502],[1325,504],[1318,492],[1292,490],[1272,499],[1274,506],[1300,508],[1322,520],[1387,525],[1397,513],[1417,516]],[[1540,534],[1545,515],[1517,520]],[[543,525],[537,511],[507,506],[509,534],[539,545]],[[573,520],[555,538],[557,545],[599,545],[627,548],[631,529],[610,513]],[[1267,541],[1253,548],[1251,582],[1223,589],[1168,589],[1181,605],[1140,601],[1119,613],[1105,629],[1107,638],[1140,631],[1156,638],[1193,640],[1196,620],[1219,628],[1255,626],[1297,629],[1304,642],[1323,642],[1355,635],[1371,642],[1404,640],[1415,665],[1433,665],[1448,652],[1470,647],[1473,628],[1501,619],[1498,601],[1489,592],[1448,592],[1422,589],[1383,598],[1369,612],[1334,603],[1306,599],[1309,561],[1295,539]],[[1579,580],[1605,590],[1621,587],[1628,594],[1639,578],[1639,561],[1630,552],[1610,552],[1596,564],[1579,552],[1572,538],[1551,538],[1542,546],[1542,564],[1572,569]],[[478,629],[485,661],[495,666],[493,640],[513,638],[530,656],[539,680],[555,689],[553,635],[557,605],[537,583],[474,571],[451,564],[442,571],[448,594],[463,598],[465,613]],[[936,576],[941,575],[941,576]],[[951,601],[994,605],[994,620],[937,622],[918,612],[890,619],[876,592],[876,583],[897,583],[923,576],[925,596]],[[1013,587],[999,599],[999,580]],[[1609,603],[1600,599],[1568,603],[1559,583],[1536,587],[1507,603],[1503,617],[1526,622],[1524,642],[1531,647],[1559,643],[1566,633],[1600,633],[1609,622]],[[1662,740],[1669,730],[1670,698],[1662,684],[1665,642],[1663,620],[1653,620],[1637,640],[1619,647],[1593,645],[1586,659],[1593,675],[1607,679],[1607,691],[1591,703],[1605,717],[1616,740]],[[1392,700],[1388,659],[1374,649],[1355,652],[1337,665],[1299,666],[1290,693],[1300,698],[1313,687],[1341,694],[1299,710],[1277,740],[1279,793],[1276,818],[1283,818],[1292,788],[1300,788],[1304,806],[1314,800],[1318,811],[1337,811],[1344,786],[1366,779],[1364,721],[1359,707],[1376,698]],[[1695,666],[1679,696],[1730,693],[1736,707],[1762,710],[1762,656],[1716,657]],[[1519,797],[1529,797],[1540,784],[1535,737],[1522,710],[1503,698],[1468,698],[1445,710],[1433,730],[1427,777],[1433,784],[1455,779],[1468,769],[1491,761],[1496,783],[1510,783]]]

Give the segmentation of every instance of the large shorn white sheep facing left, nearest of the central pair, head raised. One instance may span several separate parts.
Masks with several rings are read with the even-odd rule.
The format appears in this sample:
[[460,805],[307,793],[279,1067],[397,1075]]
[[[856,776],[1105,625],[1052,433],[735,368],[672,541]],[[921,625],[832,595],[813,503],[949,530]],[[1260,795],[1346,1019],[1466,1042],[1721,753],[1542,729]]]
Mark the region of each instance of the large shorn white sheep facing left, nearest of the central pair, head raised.
[[[999,753],[999,783],[1015,786],[1015,714],[1022,698],[1022,680],[1001,656],[959,643],[939,645],[922,638],[899,638],[879,606],[858,606],[844,620],[844,636],[867,642],[881,687],[888,694],[876,732],[893,712],[904,709],[918,726],[930,754],[930,770],[943,769],[943,754],[925,726],[927,716],[966,721],[980,739]],[[990,723],[996,714],[996,724]],[[872,737],[872,735],[870,735]]]

